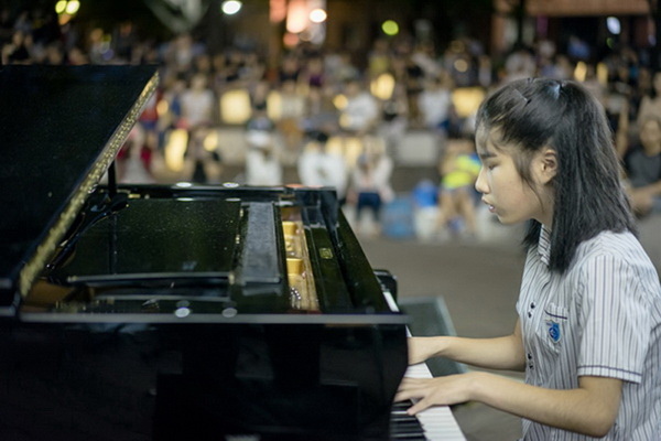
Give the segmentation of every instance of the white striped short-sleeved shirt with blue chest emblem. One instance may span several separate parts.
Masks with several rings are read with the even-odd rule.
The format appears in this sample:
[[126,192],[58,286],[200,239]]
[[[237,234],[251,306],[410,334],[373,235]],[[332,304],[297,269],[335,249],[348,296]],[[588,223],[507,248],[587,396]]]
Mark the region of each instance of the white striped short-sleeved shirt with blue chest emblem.
[[[618,378],[616,423],[602,440],[661,440],[661,287],[630,233],[581,244],[564,275],[549,270],[550,233],[528,251],[517,303],[525,383],[578,387],[579,376]],[[593,440],[523,420],[523,440]]]

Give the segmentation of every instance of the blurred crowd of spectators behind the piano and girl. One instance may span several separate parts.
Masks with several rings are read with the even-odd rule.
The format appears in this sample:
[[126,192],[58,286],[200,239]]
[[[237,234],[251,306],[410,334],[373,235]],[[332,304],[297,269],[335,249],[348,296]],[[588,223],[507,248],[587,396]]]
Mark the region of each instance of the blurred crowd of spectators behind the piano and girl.
[[[584,44],[573,43],[574,49]],[[61,25],[42,10],[15,17],[2,10],[0,49],[3,65],[159,66],[159,89],[118,158],[123,181],[332,185],[356,222],[371,212],[376,234],[384,207],[402,192],[426,213],[425,235],[477,234],[476,106],[512,79],[577,79],[606,109],[637,213],[661,212],[661,74],[633,47],[594,60],[540,40],[496,60],[472,39],[440,52],[430,42],[379,37],[362,60],[302,43],[269,65],[258,50],[212,50],[191,34],[160,42],[131,21],[88,29]],[[238,174],[228,175],[217,148],[226,128],[243,133]],[[412,131],[433,138],[436,154],[429,166],[437,171],[436,180],[397,187],[392,175],[403,166],[402,143]],[[178,150],[172,147],[175,138]],[[169,154],[178,154],[181,163],[169,161]],[[294,178],[285,170],[294,170]]]

